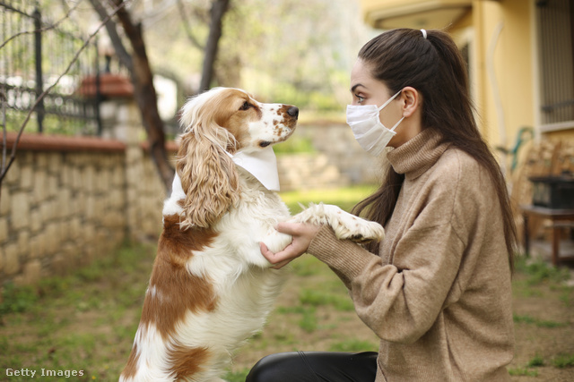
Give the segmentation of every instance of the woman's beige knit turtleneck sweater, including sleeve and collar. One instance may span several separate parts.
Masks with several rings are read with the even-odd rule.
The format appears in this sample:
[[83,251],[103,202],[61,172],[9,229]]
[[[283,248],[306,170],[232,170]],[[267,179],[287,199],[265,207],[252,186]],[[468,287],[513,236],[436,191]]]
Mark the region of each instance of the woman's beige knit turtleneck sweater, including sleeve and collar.
[[489,175],[431,129],[387,158],[405,179],[379,255],[326,226],[308,250],[380,338],[376,381],[509,380],[509,261]]

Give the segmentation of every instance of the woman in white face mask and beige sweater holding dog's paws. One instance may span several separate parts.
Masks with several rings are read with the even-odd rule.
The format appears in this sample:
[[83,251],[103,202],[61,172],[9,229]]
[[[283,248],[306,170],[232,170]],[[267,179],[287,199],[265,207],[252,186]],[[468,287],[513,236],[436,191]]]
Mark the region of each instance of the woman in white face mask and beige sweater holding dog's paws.
[[351,91],[347,121],[363,149],[394,148],[381,187],[354,209],[387,237],[363,249],[326,226],[283,223],[291,244],[261,250],[274,267],[304,252],[331,267],[378,354],[275,354],[247,380],[509,380],[516,227],[456,45],[439,30],[382,33],[361,48]]

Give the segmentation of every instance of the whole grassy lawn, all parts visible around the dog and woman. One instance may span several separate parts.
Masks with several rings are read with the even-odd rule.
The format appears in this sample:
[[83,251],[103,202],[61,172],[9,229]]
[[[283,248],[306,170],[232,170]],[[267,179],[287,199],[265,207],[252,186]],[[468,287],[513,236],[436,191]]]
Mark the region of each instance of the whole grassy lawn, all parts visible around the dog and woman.
[[[323,200],[350,208],[372,187],[285,193],[293,212],[298,202]],[[4,287],[0,302],[0,380],[8,369],[47,374],[82,371],[70,380],[117,380],[130,352],[155,255],[154,244],[126,245],[73,275],[28,287]],[[574,288],[564,269],[518,261],[514,277],[517,335],[513,381],[574,380]],[[378,340],[352,309],[344,286],[311,256],[291,265],[291,278],[263,332],[253,338],[230,368],[242,381],[265,354],[293,350],[376,350]],[[29,374],[30,376],[30,374]]]

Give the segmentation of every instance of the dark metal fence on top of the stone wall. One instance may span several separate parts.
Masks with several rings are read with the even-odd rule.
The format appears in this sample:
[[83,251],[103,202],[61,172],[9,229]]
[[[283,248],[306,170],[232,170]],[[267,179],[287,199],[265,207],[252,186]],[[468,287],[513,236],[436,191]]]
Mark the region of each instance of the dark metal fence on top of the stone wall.
[[[70,66],[87,40],[67,18],[51,21],[45,17],[38,1],[0,0],[0,100],[4,99],[9,131],[19,130],[37,104],[33,112],[37,127],[30,121],[27,132],[100,133],[97,42],[91,41]],[[62,76],[68,66],[70,70]],[[88,77],[97,84],[90,98],[78,93]]]

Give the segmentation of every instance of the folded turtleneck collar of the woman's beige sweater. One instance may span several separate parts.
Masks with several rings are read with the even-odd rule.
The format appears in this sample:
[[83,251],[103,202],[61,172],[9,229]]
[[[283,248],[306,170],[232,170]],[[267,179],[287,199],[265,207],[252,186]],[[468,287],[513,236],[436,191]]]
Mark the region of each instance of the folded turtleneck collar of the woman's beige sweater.
[[407,180],[413,180],[424,174],[434,165],[449,143],[440,143],[439,132],[427,128],[408,140],[402,146],[387,153],[387,159],[397,174],[404,174]]

